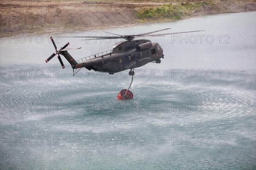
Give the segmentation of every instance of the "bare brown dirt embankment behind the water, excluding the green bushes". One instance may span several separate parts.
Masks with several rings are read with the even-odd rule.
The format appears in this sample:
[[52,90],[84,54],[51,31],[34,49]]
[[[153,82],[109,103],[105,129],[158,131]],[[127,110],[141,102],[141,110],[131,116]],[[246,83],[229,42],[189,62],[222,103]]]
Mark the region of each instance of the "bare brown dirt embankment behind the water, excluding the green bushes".
[[[255,0],[213,1],[0,1],[1,37],[15,34],[41,34],[129,26],[142,22],[175,20],[206,14],[256,10]],[[199,6],[198,6],[199,4]],[[201,5],[200,5],[201,4]],[[168,5],[182,6],[180,17],[157,15],[142,18],[143,9]],[[176,6],[176,7],[175,7]],[[161,11],[160,11],[161,12]],[[162,11],[163,12],[163,11]],[[159,13],[161,14],[161,13]],[[170,14],[172,15],[172,14]]]

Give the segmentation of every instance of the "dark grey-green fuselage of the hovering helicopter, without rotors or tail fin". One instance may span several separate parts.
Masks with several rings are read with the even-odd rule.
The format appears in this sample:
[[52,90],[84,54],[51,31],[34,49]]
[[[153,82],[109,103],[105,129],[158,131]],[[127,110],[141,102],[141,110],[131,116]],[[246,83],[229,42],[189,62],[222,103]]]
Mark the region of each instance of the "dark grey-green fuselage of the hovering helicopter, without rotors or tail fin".
[[88,70],[113,74],[127,69],[141,67],[149,62],[160,63],[163,49],[150,40],[130,40],[117,42],[111,53],[87,59],[72,65],[73,69],[85,67]]

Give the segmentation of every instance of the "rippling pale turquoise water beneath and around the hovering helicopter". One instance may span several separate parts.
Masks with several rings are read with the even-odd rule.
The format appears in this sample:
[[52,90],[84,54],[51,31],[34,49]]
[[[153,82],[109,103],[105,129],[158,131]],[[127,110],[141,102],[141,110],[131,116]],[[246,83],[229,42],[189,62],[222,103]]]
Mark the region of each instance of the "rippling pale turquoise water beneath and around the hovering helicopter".
[[[255,24],[247,12],[129,28],[203,28],[215,41],[150,38],[165,58],[135,69],[127,101],[116,99],[130,84],[127,71],[73,77],[67,61],[63,70],[57,58],[44,62],[54,50],[48,35],[41,44],[1,39],[0,169],[255,169]],[[113,45],[69,42],[82,46],[70,52],[76,59]]]

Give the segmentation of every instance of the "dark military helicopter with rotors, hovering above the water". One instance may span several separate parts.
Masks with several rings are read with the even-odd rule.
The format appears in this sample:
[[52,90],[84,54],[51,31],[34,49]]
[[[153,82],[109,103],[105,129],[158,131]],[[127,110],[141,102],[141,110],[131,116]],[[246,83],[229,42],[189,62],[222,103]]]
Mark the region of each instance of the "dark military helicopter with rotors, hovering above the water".
[[[52,44],[55,47],[55,52],[45,61],[49,62],[56,54],[61,63],[62,68],[65,68],[59,54],[63,55],[73,68],[73,76],[80,71],[81,68],[87,68],[88,70],[94,70],[99,72],[107,72],[114,74],[120,71],[130,69],[129,75],[134,75],[134,68],[141,67],[149,62],[161,63],[161,59],[164,58],[163,48],[157,42],[151,42],[150,40],[134,40],[135,37],[161,37],[171,34],[182,34],[199,31],[186,31],[175,32],[166,34],[153,34],[160,31],[165,31],[171,28],[165,28],[157,31],[151,31],[143,34],[136,35],[119,35],[110,32],[103,31],[108,34],[113,34],[113,37],[76,37],[76,38],[90,38],[90,40],[103,40],[103,39],[125,39],[125,41],[117,42],[113,45],[113,49],[105,51],[99,54],[94,54],[88,57],[84,57],[79,60],[75,60],[67,51],[76,50],[79,48],[66,48],[69,42],[64,45],[60,50],[57,50],[55,42],[51,37]],[[205,31],[205,30],[200,30]],[[88,39],[87,39],[88,40]],[[77,69],[79,69],[77,71]]]

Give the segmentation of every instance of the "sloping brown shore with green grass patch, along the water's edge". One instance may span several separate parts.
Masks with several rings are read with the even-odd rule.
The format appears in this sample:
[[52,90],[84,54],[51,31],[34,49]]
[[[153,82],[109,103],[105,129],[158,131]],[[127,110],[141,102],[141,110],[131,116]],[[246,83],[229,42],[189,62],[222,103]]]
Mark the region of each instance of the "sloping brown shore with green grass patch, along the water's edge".
[[[101,8],[102,4],[98,4],[96,1],[93,4],[94,6],[88,6],[86,4],[87,1],[59,1],[58,6],[55,4],[54,6],[43,6],[41,8],[36,7],[36,1],[29,4],[29,8],[25,6],[28,4],[24,5],[20,3],[23,1],[14,2],[17,3],[2,4],[1,2],[1,38],[17,35],[57,34],[68,33],[70,31],[77,32],[129,27],[172,22],[205,15],[256,10],[255,0],[245,0],[242,2],[228,0],[225,1],[228,8],[220,0],[184,3],[183,5],[181,5],[182,2],[181,4],[147,2],[143,6],[140,4],[140,6],[132,7],[131,5],[134,5],[133,2],[118,1],[118,3],[116,2],[116,6],[125,3],[125,8],[114,8],[111,10]],[[49,3],[48,1],[41,2]],[[140,3],[143,3],[143,1]],[[17,6],[19,4],[23,4],[24,6]],[[33,4],[35,5],[34,7]]]

